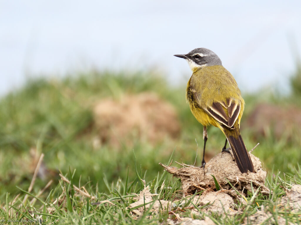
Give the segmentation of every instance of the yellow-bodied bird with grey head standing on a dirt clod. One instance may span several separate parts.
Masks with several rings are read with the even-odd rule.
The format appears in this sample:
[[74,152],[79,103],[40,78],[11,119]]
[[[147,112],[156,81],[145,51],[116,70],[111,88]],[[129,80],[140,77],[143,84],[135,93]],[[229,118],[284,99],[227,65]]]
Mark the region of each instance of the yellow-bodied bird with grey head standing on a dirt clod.
[[206,165],[204,156],[208,140],[207,127],[213,125],[226,136],[222,152],[230,153],[226,148],[229,142],[240,172],[253,172],[252,160],[240,135],[240,119],[245,102],[232,74],[223,67],[216,53],[206,48],[196,48],[187,54],[174,56],[184,58],[192,70],[187,83],[186,100],[191,113],[203,125],[204,148],[201,167],[204,169]]

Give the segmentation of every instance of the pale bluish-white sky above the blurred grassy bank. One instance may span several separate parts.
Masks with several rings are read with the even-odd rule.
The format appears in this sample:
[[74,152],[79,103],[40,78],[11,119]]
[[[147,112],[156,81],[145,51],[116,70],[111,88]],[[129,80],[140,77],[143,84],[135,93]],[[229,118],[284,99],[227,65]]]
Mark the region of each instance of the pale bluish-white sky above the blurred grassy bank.
[[174,54],[213,50],[243,92],[287,80],[301,54],[301,1],[1,1],[0,95],[28,76],[77,70],[191,71]]

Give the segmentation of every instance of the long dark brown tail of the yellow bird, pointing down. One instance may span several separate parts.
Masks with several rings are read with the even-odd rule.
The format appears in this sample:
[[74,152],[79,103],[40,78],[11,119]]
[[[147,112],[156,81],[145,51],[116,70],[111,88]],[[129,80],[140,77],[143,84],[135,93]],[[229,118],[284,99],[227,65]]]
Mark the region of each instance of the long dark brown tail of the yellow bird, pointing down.
[[241,135],[238,135],[238,139],[229,135],[227,140],[232,149],[236,164],[241,173],[247,173],[248,170],[250,172],[254,171],[253,163],[251,161],[250,155],[247,152],[246,146],[244,145],[244,141],[241,138]]

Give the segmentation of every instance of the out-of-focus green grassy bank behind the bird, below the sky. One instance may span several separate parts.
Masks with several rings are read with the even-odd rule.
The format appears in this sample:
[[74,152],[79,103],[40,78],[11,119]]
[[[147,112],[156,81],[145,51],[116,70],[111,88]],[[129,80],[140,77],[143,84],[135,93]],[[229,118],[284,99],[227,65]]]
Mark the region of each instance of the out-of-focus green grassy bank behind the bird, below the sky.
[[[268,171],[272,167],[285,173],[295,171],[294,167],[301,161],[300,127],[296,123],[296,127],[284,125],[279,128],[277,120],[271,121],[268,126],[256,127],[252,124],[252,118],[258,119],[254,117],[254,109],[259,104],[262,108],[272,105],[276,111],[279,109],[283,112],[276,115],[278,121],[290,122],[292,110],[296,118],[301,117],[301,111],[298,111],[301,110],[299,65],[291,78],[291,84],[291,94],[286,96],[277,90],[262,90],[252,95],[243,93],[246,107],[241,124],[242,137],[249,150],[260,143],[253,154],[262,160]],[[198,145],[196,165],[200,165],[203,127],[192,116],[185,102],[185,85],[171,87],[162,75],[155,72],[116,74],[90,71],[61,80],[30,80],[22,89],[2,97],[0,200],[5,199],[6,192],[20,192],[16,185],[28,188],[41,153],[45,157],[34,186],[36,191],[44,187],[49,179],[54,179],[53,185],[56,185],[58,170],[68,173],[69,168],[77,171],[74,181],[81,179],[85,183],[90,180],[92,185],[98,183],[100,191],[106,191],[104,176],[109,182],[117,182],[119,178],[125,179],[129,169],[129,179],[135,179],[133,152],[138,167],[141,167],[143,173],[146,172],[148,180],[154,179],[163,170],[158,163],[167,163],[173,149],[173,161],[193,164]],[[178,137],[167,137],[154,143],[134,134],[130,144],[123,142],[122,137],[118,147],[98,143],[99,129],[93,115],[96,102],[106,97],[119,99],[123,95],[145,91],[156,93],[160,99],[174,106],[180,123]],[[266,115],[274,113],[272,110]],[[275,129],[281,129],[280,136]],[[217,128],[210,127],[208,135],[207,159],[216,155],[225,141]]]

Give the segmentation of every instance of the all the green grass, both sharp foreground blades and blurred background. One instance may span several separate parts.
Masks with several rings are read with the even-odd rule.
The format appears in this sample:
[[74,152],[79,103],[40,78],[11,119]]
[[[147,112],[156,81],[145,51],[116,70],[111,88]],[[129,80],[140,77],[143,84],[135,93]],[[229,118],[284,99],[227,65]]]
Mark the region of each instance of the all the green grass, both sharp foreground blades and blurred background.
[[[155,145],[137,140],[133,145],[124,144],[120,148],[95,147],[93,140],[98,135],[92,114],[95,101],[141,91],[155,92],[175,106],[182,123],[178,140],[164,140]],[[33,220],[39,215],[47,220],[45,224],[165,224],[168,218],[180,215],[195,219],[209,217],[216,224],[240,224],[263,205],[275,218],[279,214],[299,224],[300,214],[291,214],[277,205],[277,198],[284,193],[285,187],[301,183],[300,146],[295,141],[298,138],[277,140],[272,132],[268,137],[254,138],[253,131],[248,129],[242,131],[242,136],[248,149],[260,143],[253,154],[262,159],[269,174],[267,186],[273,194],[255,195],[254,190],[247,197],[249,205],[237,205],[242,211],[236,215],[192,213],[194,205],[189,198],[182,199],[180,182],[162,172],[158,165],[159,162],[168,164],[171,159],[192,164],[197,146],[198,155],[201,155],[203,129],[192,116],[184,96],[184,85],[170,87],[154,73],[93,71],[62,80],[31,80],[24,88],[3,97],[0,100],[0,218],[6,222],[2,223]],[[244,117],[247,117],[259,98],[256,95],[244,98]],[[273,95],[266,99],[275,102]],[[287,104],[289,101],[277,97],[277,104],[281,102]],[[215,155],[224,137],[216,128],[209,128],[208,134],[206,147]],[[32,190],[28,191],[42,153],[41,168],[46,170],[45,176],[34,179]],[[33,155],[38,156],[36,161]],[[200,161],[197,157],[196,164],[200,165]],[[276,170],[281,173],[274,174]],[[62,180],[59,174],[70,182]],[[53,182],[43,190],[51,179]],[[135,216],[135,209],[128,207],[134,202],[135,193],[144,189],[142,180],[151,193],[158,194],[155,198],[171,200],[173,208],[158,212],[146,209],[142,216]],[[85,194],[76,191],[73,185],[85,190]],[[26,194],[28,197],[24,200]],[[56,199],[59,200],[55,202]],[[95,202],[100,203],[93,204]]]

